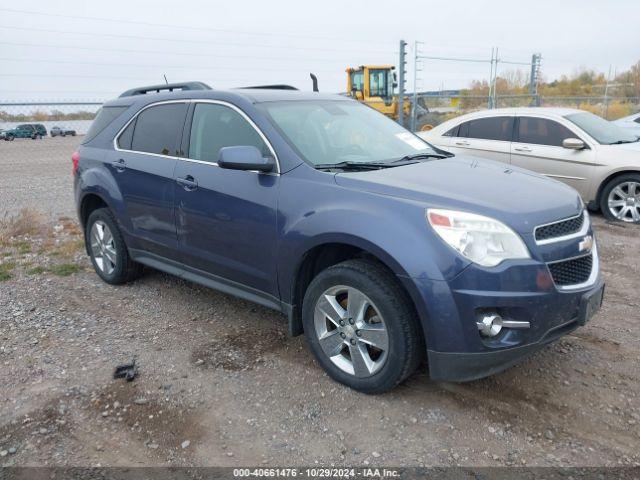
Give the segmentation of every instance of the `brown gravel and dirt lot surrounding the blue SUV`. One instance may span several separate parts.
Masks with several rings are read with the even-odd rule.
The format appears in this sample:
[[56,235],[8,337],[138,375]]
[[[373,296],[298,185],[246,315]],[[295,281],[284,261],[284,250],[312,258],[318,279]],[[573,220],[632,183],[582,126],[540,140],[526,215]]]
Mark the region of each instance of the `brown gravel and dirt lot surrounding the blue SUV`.
[[[595,217],[607,294],[586,327],[489,379],[423,368],[366,396],[272,311],[151,270],[102,283],[76,142],[0,142],[0,464],[640,465],[639,228]],[[139,378],[113,380],[134,356]]]

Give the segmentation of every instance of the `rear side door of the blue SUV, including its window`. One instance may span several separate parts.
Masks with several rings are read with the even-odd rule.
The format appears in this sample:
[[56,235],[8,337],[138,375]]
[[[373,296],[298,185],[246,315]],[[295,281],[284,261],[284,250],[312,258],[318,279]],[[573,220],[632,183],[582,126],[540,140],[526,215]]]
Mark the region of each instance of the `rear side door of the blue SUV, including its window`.
[[131,246],[167,258],[176,254],[173,172],[187,108],[182,101],[144,108],[106,159],[122,195]]

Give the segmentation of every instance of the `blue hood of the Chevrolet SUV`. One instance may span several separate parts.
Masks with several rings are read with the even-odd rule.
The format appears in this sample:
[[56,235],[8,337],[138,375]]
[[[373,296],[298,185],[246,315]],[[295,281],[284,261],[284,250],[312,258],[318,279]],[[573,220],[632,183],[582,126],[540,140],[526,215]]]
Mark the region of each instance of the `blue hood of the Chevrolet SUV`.
[[576,215],[573,188],[510,165],[470,156],[335,176],[338,185],[496,218],[520,233]]

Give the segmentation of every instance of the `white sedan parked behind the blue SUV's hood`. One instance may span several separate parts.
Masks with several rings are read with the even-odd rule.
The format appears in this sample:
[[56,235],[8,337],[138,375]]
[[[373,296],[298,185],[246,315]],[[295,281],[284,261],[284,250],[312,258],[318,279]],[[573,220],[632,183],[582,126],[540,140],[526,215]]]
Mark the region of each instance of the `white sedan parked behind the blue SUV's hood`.
[[590,209],[600,209],[612,220],[640,223],[639,137],[592,113],[568,108],[485,110],[418,135],[454,154],[497,160],[561,180],[578,190]]

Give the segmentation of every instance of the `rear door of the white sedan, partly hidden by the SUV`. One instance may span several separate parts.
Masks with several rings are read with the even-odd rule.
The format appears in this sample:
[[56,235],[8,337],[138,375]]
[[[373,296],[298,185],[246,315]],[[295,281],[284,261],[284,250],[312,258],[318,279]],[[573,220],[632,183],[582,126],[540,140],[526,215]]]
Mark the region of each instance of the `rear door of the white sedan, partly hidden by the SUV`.
[[447,132],[451,139],[445,148],[453,153],[509,163],[513,121],[514,117],[508,115],[466,121],[455,131]]

